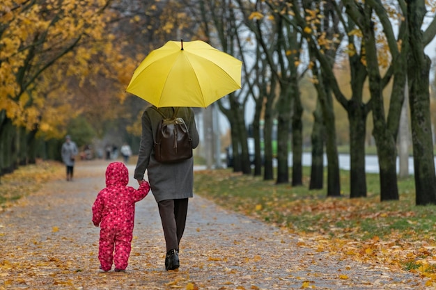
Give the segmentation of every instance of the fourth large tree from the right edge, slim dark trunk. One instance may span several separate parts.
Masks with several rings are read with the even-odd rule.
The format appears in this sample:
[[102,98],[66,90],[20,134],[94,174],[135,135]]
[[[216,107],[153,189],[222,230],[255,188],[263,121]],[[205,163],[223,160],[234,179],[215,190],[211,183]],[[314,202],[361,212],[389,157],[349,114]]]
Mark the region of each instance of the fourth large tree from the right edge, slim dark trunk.
[[[339,17],[336,17],[334,6],[331,1],[302,1],[305,11],[304,20],[296,16],[300,29],[309,42],[309,56],[311,62],[322,57],[322,65],[311,65],[314,76],[314,86],[318,92],[318,102],[322,112],[322,122],[327,134],[318,136],[317,140],[325,137],[327,152],[327,196],[341,195],[341,181],[339,179],[339,161],[336,146],[336,127],[332,92],[334,84],[329,79],[334,70],[338,45],[341,44],[343,33],[339,31]],[[299,6],[293,6],[295,15],[302,15]],[[318,121],[320,118],[317,119]],[[314,124],[314,127],[320,124]],[[320,134],[324,131],[320,131]],[[318,141],[319,142],[319,141]],[[315,144],[315,146],[320,146]],[[318,154],[321,151],[318,150]],[[320,160],[321,156],[315,161]],[[322,163],[321,163],[322,164]],[[318,163],[318,166],[321,164]],[[318,168],[319,171],[319,168]]]

